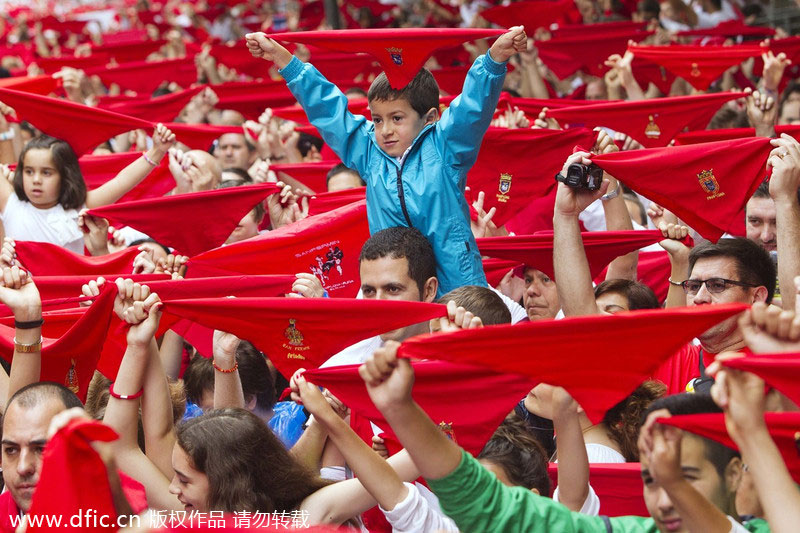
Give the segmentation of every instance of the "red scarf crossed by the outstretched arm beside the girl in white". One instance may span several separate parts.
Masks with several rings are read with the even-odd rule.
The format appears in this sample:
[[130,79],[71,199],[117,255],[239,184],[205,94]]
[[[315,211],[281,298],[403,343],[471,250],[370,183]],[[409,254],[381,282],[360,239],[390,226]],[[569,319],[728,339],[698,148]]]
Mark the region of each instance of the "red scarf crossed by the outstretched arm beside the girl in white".
[[[121,152],[108,155],[85,155],[78,159],[86,187],[96,189],[109,180],[117,177],[122,169],[142,157],[139,152]],[[175,188],[175,180],[169,171],[169,158],[164,157],[161,163],[139,182],[136,187],[125,193],[117,202],[129,202],[144,198],[164,196]]]

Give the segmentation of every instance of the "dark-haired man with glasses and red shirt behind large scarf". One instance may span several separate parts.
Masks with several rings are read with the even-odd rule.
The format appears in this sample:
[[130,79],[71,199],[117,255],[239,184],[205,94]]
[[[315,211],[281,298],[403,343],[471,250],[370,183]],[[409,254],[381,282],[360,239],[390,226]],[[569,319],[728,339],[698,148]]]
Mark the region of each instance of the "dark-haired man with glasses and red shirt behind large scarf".
[[[775,293],[775,264],[769,253],[748,239],[721,239],[717,244],[705,242],[689,252],[689,278],[680,285],[686,295],[686,305],[709,305],[772,301]],[[687,344],[671,364],[683,368],[685,375],[699,375],[689,387],[708,391],[712,380],[705,374],[706,366],[724,351],[745,348],[738,325],[738,316],[731,317],[697,337],[699,345]],[[677,363],[677,364],[676,364]]]

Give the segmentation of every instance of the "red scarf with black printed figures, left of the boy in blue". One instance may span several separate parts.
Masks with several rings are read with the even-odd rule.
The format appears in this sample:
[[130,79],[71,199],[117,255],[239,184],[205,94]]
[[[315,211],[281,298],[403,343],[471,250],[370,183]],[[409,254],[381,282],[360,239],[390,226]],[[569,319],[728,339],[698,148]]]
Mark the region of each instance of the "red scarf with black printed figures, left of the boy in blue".
[[366,202],[358,202],[204,252],[191,258],[188,275],[310,272],[331,296],[354,297],[358,256],[368,238]]

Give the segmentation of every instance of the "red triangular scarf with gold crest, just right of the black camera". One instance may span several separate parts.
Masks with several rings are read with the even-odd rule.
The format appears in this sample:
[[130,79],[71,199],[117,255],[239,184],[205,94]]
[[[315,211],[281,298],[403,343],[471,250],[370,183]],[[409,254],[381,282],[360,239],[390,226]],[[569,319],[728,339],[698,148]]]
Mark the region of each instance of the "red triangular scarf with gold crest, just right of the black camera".
[[716,242],[763,181],[771,150],[769,139],[759,137],[616,152],[592,161]]

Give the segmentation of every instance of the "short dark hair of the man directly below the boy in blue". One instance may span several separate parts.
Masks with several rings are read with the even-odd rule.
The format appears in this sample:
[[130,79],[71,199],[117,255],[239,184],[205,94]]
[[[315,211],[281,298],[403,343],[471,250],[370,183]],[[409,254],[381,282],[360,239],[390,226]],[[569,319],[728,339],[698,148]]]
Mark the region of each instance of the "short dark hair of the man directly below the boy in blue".
[[408,277],[416,282],[420,295],[425,290],[425,282],[436,277],[433,246],[416,228],[396,226],[379,231],[364,243],[358,262],[384,257],[407,260]]

